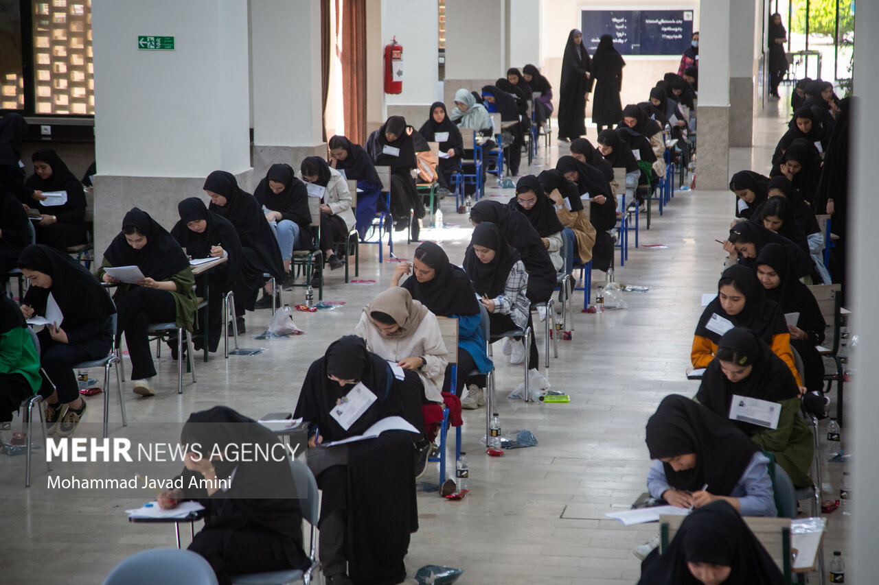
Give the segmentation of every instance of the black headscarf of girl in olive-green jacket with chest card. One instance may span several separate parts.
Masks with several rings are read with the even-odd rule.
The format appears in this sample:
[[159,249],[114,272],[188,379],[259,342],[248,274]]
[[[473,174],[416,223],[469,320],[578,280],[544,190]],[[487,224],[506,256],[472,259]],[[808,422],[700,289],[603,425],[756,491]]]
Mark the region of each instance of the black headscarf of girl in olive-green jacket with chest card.
[[[800,395],[788,365],[751,329],[734,327],[724,333],[717,343],[717,352],[720,353],[722,349],[735,351],[736,365],[752,365],[753,369],[745,379],[730,382],[723,373],[720,359],[715,356],[711,360],[702,374],[696,400],[716,415],[729,417],[733,394],[770,402],[786,401]],[[751,423],[732,423],[748,435],[765,429]]]

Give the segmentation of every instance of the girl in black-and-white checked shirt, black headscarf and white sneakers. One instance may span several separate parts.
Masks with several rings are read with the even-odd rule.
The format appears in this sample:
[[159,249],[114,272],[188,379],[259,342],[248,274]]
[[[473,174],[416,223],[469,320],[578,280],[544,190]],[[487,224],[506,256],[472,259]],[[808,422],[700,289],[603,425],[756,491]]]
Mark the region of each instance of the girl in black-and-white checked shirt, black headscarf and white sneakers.
[[[482,297],[480,302],[489,312],[490,330],[494,334],[531,328],[528,369],[537,370],[540,358],[534,342],[531,302],[526,293],[530,275],[525,271],[519,252],[506,242],[500,227],[483,221],[474,228],[470,245],[464,253],[463,267],[474,290]],[[511,343],[510,363],[521,364],[525,361],[525,340],[514,339],[520,343]],[[507,353],[506,347],[504,353]]]

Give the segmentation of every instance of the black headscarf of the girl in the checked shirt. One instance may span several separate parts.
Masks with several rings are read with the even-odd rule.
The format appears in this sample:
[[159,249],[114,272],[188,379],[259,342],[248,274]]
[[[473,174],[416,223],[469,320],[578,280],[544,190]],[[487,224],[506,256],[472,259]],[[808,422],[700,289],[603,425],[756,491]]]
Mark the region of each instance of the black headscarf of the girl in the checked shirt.
[[[494,250],[495,257],[491,262],[483,263],[476,257],[475,245]],[[483,221],[473,229],[470,245],[464,253],[464,271],[473,282],[476,293],[494,299],[504,292],[512,265],[520,259],[519,252],[506,242],[500,228],[490,221]]]

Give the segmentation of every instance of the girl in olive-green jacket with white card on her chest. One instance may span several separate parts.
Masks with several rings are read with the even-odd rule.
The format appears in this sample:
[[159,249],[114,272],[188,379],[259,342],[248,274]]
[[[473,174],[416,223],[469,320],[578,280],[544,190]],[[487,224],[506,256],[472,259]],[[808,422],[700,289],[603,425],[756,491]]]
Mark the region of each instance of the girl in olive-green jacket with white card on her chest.
[[800,417],[800,389],[790,368],[751,329],[734,327],[717,343],[717,355],[702,375],[695,400],[718,416],[730,415],[738,396],[781,406],[777,428],[732,420],[761,449],[771,451],[796,488],[812,485],[812,431]]

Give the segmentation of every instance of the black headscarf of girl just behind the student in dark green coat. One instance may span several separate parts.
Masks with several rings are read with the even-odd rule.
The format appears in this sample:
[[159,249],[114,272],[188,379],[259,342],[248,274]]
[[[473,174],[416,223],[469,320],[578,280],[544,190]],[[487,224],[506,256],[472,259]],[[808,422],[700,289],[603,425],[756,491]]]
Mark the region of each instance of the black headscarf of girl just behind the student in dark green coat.
[[[205,202],[198,197],[184,199],[177,204],[180,220],[171,229],[173,237],[186,250],[186,254],[193,258],[207,258],[211,253],[211,246],[219,244],[222,249],[229,253],[229,259],[223,264],[226,278],[223,290],[229,290],[232,282],[238,276],[241,267],[241,240],[238,233],[229,220],[207,211]],[[207,226],[200,234],[193,232],[186,226],[190,221],[205,220]]]

